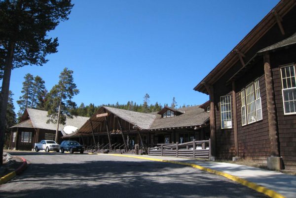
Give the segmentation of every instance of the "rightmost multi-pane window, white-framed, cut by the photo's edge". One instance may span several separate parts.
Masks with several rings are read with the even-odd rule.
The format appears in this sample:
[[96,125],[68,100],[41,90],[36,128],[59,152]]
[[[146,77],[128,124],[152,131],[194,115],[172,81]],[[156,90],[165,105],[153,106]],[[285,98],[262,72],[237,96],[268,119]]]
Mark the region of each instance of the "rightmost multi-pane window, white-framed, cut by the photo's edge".
[[288,65],[281,68],[282,94],[284,102],[284,113],[296,113],[296,80],[295,67]]

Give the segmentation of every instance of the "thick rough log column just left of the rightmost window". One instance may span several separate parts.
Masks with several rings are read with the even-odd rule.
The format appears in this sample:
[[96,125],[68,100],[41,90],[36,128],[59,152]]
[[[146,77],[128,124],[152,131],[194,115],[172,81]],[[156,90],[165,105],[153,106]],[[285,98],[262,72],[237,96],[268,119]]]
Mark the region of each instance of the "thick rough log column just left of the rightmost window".
[[270,156],[280,157],[279,151],[279,137],[277,132],[277,119],[274,104],[274,90],[272,72],[270,68],[269,55],[264,55],[264,74],[265,74],[265,85],[266,85],[266,100],[267,100],[267,111],[268,111],[268,127],[269,127],[269,142],[270,142]]

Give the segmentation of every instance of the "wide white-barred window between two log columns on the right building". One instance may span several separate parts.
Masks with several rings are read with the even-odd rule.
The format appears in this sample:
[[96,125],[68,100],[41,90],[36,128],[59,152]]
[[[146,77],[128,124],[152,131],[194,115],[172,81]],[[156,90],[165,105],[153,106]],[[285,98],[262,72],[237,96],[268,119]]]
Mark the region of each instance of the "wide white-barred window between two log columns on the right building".
[[262,119],[262,106],[259,79],[246,86],[241,91],[242,125],[250,124]]

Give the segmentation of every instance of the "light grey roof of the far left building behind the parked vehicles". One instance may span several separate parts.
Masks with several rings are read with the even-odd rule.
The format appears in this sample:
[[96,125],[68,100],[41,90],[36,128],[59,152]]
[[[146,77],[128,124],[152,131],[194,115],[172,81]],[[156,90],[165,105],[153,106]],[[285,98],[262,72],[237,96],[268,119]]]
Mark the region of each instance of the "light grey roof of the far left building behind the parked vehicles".
[[[28,113],[28,119],[19,124],[12,126],[11,128],[23,127],[23,128],[48,129],[48,130],[57,129],[57,124],[46,123],[46,121],[48,120],[47,111],[30,109],[30,108],[27,108],[25,112],[26,111]],[[66,135],[63,132],[64,126],[71,125],[79,129],[88,119],[89,119],[88,117],[82,117],[82,116],[74,116],[73,119],[67,118],[66,124],[65,125],[60,124],[59,130],[62,131],[63,135]]]

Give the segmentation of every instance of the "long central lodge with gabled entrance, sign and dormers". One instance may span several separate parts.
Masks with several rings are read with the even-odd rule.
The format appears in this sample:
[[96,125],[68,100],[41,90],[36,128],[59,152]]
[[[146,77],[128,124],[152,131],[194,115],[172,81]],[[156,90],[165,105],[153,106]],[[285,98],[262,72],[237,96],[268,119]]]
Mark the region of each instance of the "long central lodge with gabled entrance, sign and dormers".
[[164,107],[155,113],[139,113],[101,107],[79,130],[63,139],[76,138],[85,145],[158,144],[209,139],[209,112],[203,106],[173,109]]

